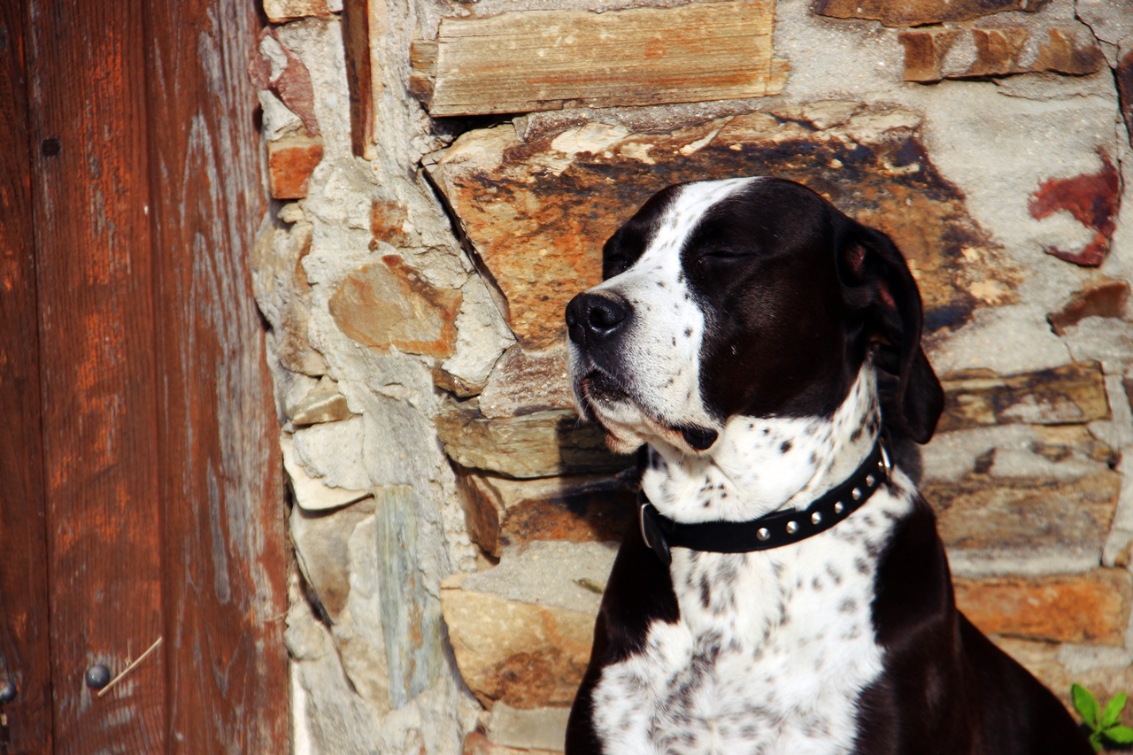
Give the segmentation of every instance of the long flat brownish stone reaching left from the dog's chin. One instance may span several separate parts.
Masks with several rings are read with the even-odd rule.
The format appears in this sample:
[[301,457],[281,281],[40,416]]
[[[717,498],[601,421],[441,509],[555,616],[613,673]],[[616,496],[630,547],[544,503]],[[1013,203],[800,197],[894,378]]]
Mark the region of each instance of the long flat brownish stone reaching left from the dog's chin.
[[536,412],[488,419],[475,401],[450,404],[436,416],[437,436],[457,464],[508,477],[623,469],[632,459],[606,449],[603,432],[573,412]]

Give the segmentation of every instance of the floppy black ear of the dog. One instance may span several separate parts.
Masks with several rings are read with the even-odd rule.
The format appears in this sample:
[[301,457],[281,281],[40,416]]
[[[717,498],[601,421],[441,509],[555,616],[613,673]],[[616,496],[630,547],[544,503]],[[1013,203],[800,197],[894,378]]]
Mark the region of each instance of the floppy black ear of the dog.
[[895,378],[891,398],[898,416],[891,418],[911,439],[927,443],[944,409],[944,389],[921,349],[917,281],[885,234],[851,220],[838,236],[846,303],[861,316],[875,364]]

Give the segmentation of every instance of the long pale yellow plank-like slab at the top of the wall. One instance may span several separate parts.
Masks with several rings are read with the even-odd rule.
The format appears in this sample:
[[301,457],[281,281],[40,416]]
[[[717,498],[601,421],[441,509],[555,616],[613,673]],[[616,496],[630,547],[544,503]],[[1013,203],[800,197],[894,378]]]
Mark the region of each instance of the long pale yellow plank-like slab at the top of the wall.
[[773,0],[445,18],[412,54],[412,88],[431,93],[432,116],[775,94],[774,23]]

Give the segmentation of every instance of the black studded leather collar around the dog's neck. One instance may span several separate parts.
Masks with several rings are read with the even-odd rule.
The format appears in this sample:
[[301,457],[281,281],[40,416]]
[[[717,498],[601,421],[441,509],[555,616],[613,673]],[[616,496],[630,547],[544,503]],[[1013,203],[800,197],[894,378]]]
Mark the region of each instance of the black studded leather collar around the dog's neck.
[[802,511],[787,509],[748,521],[680,524],[663,516],[638,493],[641,538],[661,562],[672,562],[670,548],[712,553],[749,553],[791,545],[829,529],[857,511],[883,482],[889,481],[892,464],[880,436],[861,466],[844,482],[816,499]]

